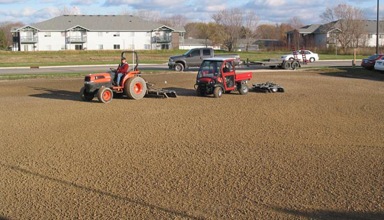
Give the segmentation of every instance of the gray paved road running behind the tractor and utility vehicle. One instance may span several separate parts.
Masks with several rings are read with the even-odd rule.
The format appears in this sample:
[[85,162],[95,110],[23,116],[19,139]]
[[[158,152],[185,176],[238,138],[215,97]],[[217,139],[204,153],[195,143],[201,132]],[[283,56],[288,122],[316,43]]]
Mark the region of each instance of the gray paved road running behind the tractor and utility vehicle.
[[[357,61],[357,66],[360,66],[361,61]],[[308,64],[308,66],[350,66],[351,61],[316,61]],[[36,74],[36,73],[92,73],[98,71],[107,71],[109,68],[116,68],[117,65],[110,66],[74,66],[74,67],[53,67],[53,68],[0,68],[0,75],[8,74]],[[265,66],[249,66],[242,67],[242,70],[265,70],[269,67]],[[168,70],[168,66],[165,64],[156,65],[142,65],[140,70]],[[197,71],[198,68],[189,68],[187,71]]]

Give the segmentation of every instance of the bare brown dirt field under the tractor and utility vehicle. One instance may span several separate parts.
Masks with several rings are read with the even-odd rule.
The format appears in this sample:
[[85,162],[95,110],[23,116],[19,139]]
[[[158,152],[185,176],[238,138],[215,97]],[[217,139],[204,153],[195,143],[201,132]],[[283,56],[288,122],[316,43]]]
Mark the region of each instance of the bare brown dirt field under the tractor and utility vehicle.
[[[286,93],[79,101],[0,82],[0,219],[384,219],[384,75],[256,73]],[[164,84],[165,80],[168,82]]]

